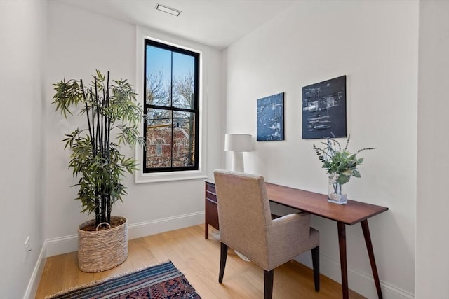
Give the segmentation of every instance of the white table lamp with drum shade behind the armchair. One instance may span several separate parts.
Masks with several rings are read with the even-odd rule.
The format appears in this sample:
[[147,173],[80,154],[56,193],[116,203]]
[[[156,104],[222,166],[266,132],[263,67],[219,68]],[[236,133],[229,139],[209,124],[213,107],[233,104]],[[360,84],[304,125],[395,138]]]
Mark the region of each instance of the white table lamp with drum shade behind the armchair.
[[232,151],[232,168],[234,172],[244,172],[243,152],[252,151],[250,134],[225,134],[225,151]]

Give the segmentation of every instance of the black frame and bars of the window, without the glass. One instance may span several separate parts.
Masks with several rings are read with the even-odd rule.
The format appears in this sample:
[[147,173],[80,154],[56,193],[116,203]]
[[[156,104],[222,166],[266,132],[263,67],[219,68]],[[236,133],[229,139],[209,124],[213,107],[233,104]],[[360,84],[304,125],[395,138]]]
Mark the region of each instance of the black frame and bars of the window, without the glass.
[[[180,108],[175,107],[170,104],[170,106],[159,106],[159,105],[153,105],[153,104],[147,104],[147,46],[154,46],[156,48],[161,48],[163,50],[170,50],[175,53],[181,53],[185,55],[190,55],[194,57],[194,107],[193,109],[186,109],[186,108]],[[166,43],[161,43],[159,41],[154,41],[151,39],[145,39],[144,42],[144,76],[143,76],[143,109],[145,113],[147,113],[148,109],[163,109],[168,110],[172,112],[172,118],[173,118],[173,112],[174,111],[182,111],[182,112],[189,112],[194,113],[194,165],[192,166],[184,166],[184,167],[173,167],[173,148],[172,148],[172,157],[171,157],[171,167],[147,167],[147,145],[143,148],[143,165],[142,165],[142,172],[145,174],[149,173],[158,173],[158,172],[178,172],[178,171],[191,171],[191,170],[199,170],[199,120],[200,120],[200,107],[199,107],[199,93],[200,93],[200,58],[201,55],[198,52],[194,52],[191,50],[186,50],[184,48],[179,48],[176,46],[168,45]],[[173,79],[173,78],[172,78]],[[173,84],[173,82],[172,82]],[[172,102],[172,101],[170,101]],[[172,102],[173,103],[173,102]],[[145,120],[143,123],[143,134],[145,140],[147,140],[147,121]],[[173,131],[172,131],[173,132]],[[172,142],[170,143],[173,146],[173,134],[172,134]]]

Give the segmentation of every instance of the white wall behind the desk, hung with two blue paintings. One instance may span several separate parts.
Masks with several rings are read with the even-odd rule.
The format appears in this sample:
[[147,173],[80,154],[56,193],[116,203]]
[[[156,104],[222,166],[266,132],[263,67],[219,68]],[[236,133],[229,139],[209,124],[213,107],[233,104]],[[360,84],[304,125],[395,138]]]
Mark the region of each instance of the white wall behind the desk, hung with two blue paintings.
[[[299,1],[226,51],[227,132],[256,135],[256,100],[286,92],[285,141],[255,144],[246,171],[327,192],[302,140],[302,87],[347,75],[349,148],[363,152],[349,198],[389,207],[369,220],[384,298],[413,298],[417,172],[417,1]],[[229,161],[228,161],[229,162]],[[340,281],[337,225],[314,218],[321,272]],[[360,225],[347,228],[349,288],[375,298]]]

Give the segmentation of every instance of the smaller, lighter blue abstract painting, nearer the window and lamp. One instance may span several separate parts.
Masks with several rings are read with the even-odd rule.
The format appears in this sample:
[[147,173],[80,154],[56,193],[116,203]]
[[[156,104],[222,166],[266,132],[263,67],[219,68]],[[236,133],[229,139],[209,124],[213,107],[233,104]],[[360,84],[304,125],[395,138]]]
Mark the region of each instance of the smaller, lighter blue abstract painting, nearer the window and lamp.
[[257,99],[257,141],[279,141],[283,134],[284,92]]

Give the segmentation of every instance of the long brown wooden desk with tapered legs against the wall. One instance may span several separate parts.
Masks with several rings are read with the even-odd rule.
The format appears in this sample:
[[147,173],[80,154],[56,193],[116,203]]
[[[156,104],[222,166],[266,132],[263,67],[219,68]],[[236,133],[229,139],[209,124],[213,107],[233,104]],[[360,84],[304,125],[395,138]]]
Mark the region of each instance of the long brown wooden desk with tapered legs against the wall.
[[[215,183],[206,181],[206,239],[208,238],[208,224],[211,221],[218,223],[218,214],[216,213],[216,194]],[[349,298],[348,291],[348,273],[347,273],[347,254],[346,254],[346,225],[361,223],[363,237],[365,237],[366,249],[370,258],[371,270],[377,290],[377,296],[382,299],[382,290],[380,288],[379,274],[377,273],[376,262],[371,243],[370,230],[368,228],[368,218],[387,211],[387,207],[380,207],[374,204],[366,204],[348,200],[347,204],[333,204],[328,202],[328,196],[313,193],[305,190],[290,188],[286,186],[266,183],[267,193],[271,202],[282,204],[286,207],[307,211],[316,216],[328,218],[337,221],[338,243],[340,246],[340,267],[342,272],[342,295],[344,299]],[[212,199],[212,200],[211,200]],[[215,206],[213,205],[215,202]],[[215,218],[216,215],[216,218]],[[212,220],[213,218],[213,220]],[[218,225],[213,225],[218,228]]]

